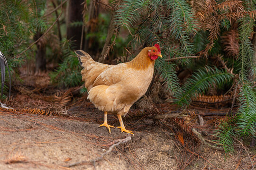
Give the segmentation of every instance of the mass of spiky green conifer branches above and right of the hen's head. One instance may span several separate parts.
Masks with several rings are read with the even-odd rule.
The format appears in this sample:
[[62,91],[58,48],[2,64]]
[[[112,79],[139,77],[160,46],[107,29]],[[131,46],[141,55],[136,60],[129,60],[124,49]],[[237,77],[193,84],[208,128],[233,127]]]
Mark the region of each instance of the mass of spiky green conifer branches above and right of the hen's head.
[[[212,2],[214,4],[214,1]],[[243,3],[247,11],[255,10],[255,1],[245,0]],[[141,44],[145,47],[158,42],[163,59],[191,56],[204,51],[205,48],[208,49],[207,59],[193,62],[191,62],[192,59],[180,59],[176,63],[166,63],[163,59],[158,59],[155,63],[155,68],[165,80],[168,90],[174,93],[175,102],[181,106],[188,106],[199,94],[207,93],[210,87],[222,90],[228,87],[229,89],[231,84],[236,82],[234,75],[239,75],[241,89],[238,99],[240,102],[238,117],[229,123],[221,124],[217,133],[219,144],[223,146],[225,152],[233,150],[233,136],[254,136],[256,121],[255,92],[250,88],[247,80],[249,74],[256,73],[254,51],[248,38],[255,26],[254,18],[241,15],[238,21],[232,21],[229,17],[214,20],[217,19],[215,16],[217,13],[225,15],[226,12],[231,12],[233,5],[235,2],[224,0],[216,2],[215,5],[208,3],[207,7],[213,12],[209,10],[201,12],[201,15],[205,14],[202,18],[209,21],[205,21],[206,31],[200,28],[202,23],[195,19],[190,4],[185,0],[126,0],[119,5],[115,16],[117,27],[125,26],[130,33],[128,38],[130,48],[136,48]],[[225,56],[223,42],[220,41],[219,35],[234,29],[236,26],[234,22],[238,23],[239,55],[238,58],[234,56],[230,59]],[[236,45],[230,46],[230,49],[234,49]],[[227,64],[229,70],[234,68],[233,74],[219,68],[220,62],[216,58],[210,59],[219,54],[223,55],[223,58],[220,58],[221,67]],[[197,71],[194,71],[180,87],[175,68],[184,68],[184,66]],[[202,66],[205,68],[201,68]]]

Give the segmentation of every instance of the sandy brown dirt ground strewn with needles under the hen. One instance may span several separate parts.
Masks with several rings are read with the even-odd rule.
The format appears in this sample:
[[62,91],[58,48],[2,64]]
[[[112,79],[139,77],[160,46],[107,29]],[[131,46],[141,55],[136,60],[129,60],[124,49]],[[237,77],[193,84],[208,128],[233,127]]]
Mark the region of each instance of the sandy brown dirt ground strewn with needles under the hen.
[[[186,137],[183,146],[170,128],[146,118],[124,120],[134,136],[114,147],[102,160],[67,168],[71,163],[100,157],[112,141],[126,138],[127,134],[118,128],[111,128],[111,134],[106,127],[98,128],[103,118],[103,113],[96,110],[76,110],[70,116],[55,117],[0,110],[0,170],[251,169],[247,153],[240,146],[225,159],[222,151],[200,142],[189,147],[187,143],[191,141]],[[114,115],[109,115],[108,121],[119,126]],[[255,164],[255,148],[249,153]]]

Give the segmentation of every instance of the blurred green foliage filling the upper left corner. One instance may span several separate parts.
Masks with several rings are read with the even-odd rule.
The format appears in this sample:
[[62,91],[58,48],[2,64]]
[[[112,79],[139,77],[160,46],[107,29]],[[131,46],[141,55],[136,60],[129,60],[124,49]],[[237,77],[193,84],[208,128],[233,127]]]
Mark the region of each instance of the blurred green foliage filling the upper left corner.
[[[23,56],[18,55],[27,49],[31,37],[37,30],[44,32],[47,29],[46,18],[42,17],[45,9],[46,0],[0,1],[0,51],[6,56],[11,76],[18,75],[18,67],[31,55],[30,49]],[[9,76],[5,77],[8,82]],[[4,88],[5,93],[8,88]]]

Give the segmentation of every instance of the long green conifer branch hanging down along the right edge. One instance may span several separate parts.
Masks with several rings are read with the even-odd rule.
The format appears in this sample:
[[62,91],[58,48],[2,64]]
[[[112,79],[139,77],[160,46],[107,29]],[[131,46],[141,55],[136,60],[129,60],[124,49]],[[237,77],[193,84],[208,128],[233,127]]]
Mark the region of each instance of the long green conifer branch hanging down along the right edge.
[[[245,0],[245,6],[247,9],[255,10],[256,1]],[[255,136],[256,135],[256,94],[251,87],[250,81],[248,80],[249,73],[251,75],[256,74],[255,65],[255,51],[248,37],[253,32],[253,27],[256,26],[254,19],[246,16],[241,18],[240,26],[238,27],[239,32],[239,54],[238,60],[241,63],[239,70],[239,85],[240,93],[238,101],[240,106],[238,109],[238,117],[236,119],[236,128],[238,136]],[[252,76],[253,77],[253,76]]]

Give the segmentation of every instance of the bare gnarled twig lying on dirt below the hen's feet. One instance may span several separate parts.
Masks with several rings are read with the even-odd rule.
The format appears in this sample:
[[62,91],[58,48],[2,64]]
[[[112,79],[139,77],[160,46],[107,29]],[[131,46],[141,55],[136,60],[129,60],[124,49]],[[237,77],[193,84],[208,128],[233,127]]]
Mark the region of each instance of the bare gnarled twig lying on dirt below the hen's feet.
[[75,162],[75,163],[71,163],[71,164],[69,164],[69,165],[67,165],[67,166],[65,166],[65,167],[73,167],[73,166],[76,166],[76,165],[80,165],[80,164],[83,164],[83,163],[89,163],[89,162],[90,162],[90,163],[93,163],[93,165],[94,165],[95,162],[102,160],[103,157],[104,157],[106,154],[110,153],[110,152],[112,151],[112,149],[113,149],[115,146],[118,146],[119,144],[127,143],[127,142],[130,141],[130,140],[131,140],[131,136],[130,136],[130,134],[128,134],[128,135],[126,136],[126,138],[124,138],[124,139],[115,140],[114,142],[117,142],[117,141],[119,141],[119,142],[116,143],[116,144],[112,144],[112,145],[110,146],[109,150],[108,150],[107,152],[101,154],[100,157],[97,157],[97,158],[95,158],[95,159],[93,159],[93,160],[90,160],[90,161],[78,161],[78,162]]

